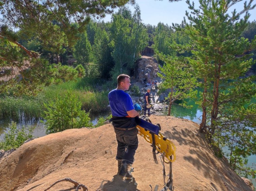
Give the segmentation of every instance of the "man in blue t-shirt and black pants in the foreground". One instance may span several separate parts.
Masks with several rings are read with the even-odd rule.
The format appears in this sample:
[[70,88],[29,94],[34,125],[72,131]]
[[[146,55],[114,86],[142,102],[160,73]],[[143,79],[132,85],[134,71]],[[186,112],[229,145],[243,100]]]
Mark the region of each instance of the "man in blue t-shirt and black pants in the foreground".
[[118,174],[131,178],[128,166],[134,161],[134,154],[138,148],[138,130],[135,117],[139,112],[134,109],[132,99],[125,90],[130,87],[130,76],[121,74],[117,77],[117,88],[108,93],[109,105],[112,113],[112,124],[117,138]]

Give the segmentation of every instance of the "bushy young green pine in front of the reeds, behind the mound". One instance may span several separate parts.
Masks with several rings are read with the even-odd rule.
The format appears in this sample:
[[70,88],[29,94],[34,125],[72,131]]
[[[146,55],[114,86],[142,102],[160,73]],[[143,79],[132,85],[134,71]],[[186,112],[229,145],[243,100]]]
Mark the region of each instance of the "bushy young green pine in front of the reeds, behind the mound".
[[46,133],[60,132],[70,128],[91,127],[89,113],[81,110],[82,103],[67,91],[64,96],[57,95],[55,101],[44,104],[43,118],[46,120]]

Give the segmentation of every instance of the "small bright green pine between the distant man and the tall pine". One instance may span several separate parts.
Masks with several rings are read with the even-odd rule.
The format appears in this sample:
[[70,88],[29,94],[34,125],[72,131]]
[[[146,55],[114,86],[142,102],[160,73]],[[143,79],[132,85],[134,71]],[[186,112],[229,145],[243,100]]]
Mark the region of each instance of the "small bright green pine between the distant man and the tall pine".
[[182,100],[182,103],[179,104],[182,107],[191,107],[187,105],[185,99],[196,98],[197,90],[194,89],[198,83],[197,79],[191,75],[190,68],[184,64],[184,60],[181,61],[176,56],[165,56],[159,53],[158,56],[164,62],[163,67],[159,67],[161,73],[157,74],[163,79],[161,87],[170,89],[168,94],[168,116],[170,116],[171,106],[177,100]]

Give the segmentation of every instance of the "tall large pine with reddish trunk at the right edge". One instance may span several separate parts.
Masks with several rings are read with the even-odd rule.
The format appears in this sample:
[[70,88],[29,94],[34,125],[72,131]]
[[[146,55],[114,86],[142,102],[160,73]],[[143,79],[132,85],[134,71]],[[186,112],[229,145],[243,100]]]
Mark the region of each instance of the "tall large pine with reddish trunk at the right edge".
[[[245,158],[256,154],[256,143],[253,142],[256,113],[246,107],[256,93],[252,83],[255,76],[243,77],[253,65],[252,59],[248,60],[251,55],[245,53],[255,41],[250,44],[248,39],[241,38],[248,24],[248,11],[255,5],[252,1],[245,2],[240,12],[234,10],[229,15],[229,8],[236,2],[199,0],[200,6],[196,9],[187,1],[192,11],[191,14],[186,12],[190,24],[185,27],[193,53],[188,61],[203,88],[200,102],[203,114],[199,130],[206,132],[213,146],[228,146],[233,166],[238,164],[234,163],[233,156]],[[244,19],[240,19],[242,14]],[[250,113],[250,118],[244,115],[246,113]],[[236,140],[232,138],[234,136],[237,136]],[[248,143],[249,140],[252,144]],[[242,169],[243,166],[234,168]]]

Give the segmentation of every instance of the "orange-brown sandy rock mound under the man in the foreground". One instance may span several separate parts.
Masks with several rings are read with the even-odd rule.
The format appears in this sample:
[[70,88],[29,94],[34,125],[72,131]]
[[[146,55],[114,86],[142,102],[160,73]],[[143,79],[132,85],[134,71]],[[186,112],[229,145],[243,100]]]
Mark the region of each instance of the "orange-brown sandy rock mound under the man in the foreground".
[[[198,131],[198,124],[174,117],[150,117],[161,125],[162,134],[176,146],[172,163],[175,191],[252,191],[232,171],[224,158],[214,155]],[[117,142],[111,124],[94,129],[68,129],[34,139],[0,158],[0,190],[43,191],[55,182],[70,178],[88,191],[160,191],[168,179],[160,154],[138,136],[139,146],[132,167],[133,179],[117,174]],[[75,190],[60,182],[49,190]]]

